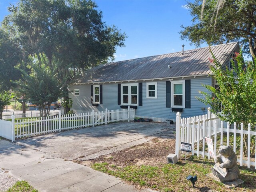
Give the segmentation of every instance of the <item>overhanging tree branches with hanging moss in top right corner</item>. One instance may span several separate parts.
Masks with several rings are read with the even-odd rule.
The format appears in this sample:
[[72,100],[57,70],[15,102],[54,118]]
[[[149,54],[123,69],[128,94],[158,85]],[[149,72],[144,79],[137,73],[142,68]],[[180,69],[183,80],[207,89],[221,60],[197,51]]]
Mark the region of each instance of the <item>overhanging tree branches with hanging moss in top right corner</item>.
[[181,39],[196,46],[239,41],[244,52],[256,58],[255,0],[225,0],[221,7],[216,0],[204,0],[203,5],[202,2],[195,0],[186,5],[193,18],[191,26],[182,26]]

